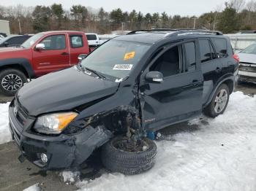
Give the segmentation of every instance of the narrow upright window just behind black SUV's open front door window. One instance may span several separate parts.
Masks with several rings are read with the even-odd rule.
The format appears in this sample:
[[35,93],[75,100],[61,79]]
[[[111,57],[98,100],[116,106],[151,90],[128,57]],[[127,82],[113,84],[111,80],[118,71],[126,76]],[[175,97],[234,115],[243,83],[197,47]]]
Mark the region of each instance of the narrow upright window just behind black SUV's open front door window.
[[195,42],[188,42],[184,44],[186,55],[186,70],[195,71],[196,58],[195,58]]

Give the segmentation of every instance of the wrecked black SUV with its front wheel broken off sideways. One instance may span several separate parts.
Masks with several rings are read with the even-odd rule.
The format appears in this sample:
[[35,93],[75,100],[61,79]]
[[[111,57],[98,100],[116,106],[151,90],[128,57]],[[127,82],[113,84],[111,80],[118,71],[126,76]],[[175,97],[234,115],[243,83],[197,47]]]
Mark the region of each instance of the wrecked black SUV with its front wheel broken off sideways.
[[78,168],[101,147],[106,168],[138,174],[155,163],[148,135],[202,112],[222,114],[238,79],[230,41],[218,31],[132,31],[86,56],[29,82],[11,102],[20,160]]

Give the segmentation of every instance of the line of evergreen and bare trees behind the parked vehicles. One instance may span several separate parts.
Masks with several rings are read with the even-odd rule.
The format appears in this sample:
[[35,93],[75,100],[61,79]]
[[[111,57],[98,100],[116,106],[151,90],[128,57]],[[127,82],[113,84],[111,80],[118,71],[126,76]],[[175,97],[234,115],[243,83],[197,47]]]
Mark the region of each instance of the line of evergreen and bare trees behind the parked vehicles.
[[22,5],[0,6],[0,19],[10,21],[12,34],[36,34],[40,31],[75,30],[108,34],[116,30],[140,30],[149,28],[206,28],[223,33],[256,30],[256,1],[230,0],[199,17],[171,15],[171,12],[146,13],[113,9],[106,12],[81,4],[69,10],[62,4],[24,7]]

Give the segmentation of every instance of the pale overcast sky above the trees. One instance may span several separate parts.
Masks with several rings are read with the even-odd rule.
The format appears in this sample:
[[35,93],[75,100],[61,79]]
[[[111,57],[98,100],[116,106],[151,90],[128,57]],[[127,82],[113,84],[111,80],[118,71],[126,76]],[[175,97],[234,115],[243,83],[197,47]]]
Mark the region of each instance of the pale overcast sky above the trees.
[[198,16],[203,12],[214,11],[217,7],[224,7],[225,0],[1,0],[0,5],[36,6],[53,3],[62,4],[64,9],[69,9],[72,4],[82,4],[95,9],[103,7],[108,12],[120,7],[123,11],[130,12],[136,9],[144,14],[165,11],[168,15]]

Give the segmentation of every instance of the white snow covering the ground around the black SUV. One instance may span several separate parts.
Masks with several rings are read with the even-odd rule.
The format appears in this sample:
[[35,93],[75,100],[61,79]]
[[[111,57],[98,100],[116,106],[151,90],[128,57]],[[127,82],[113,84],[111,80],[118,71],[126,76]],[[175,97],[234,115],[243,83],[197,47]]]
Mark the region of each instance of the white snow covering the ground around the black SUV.
[[[7,105],[0,104],[0,143],[10,140]],[[157,143],[157,163],[136,176],[102,174],[75,182],[80,190],[256,190],[256,98],[233,93],[225,114],[189,122]],[[65,182],[75,174],[65,171]],[[34,185],[35,188],[38,188]]]

